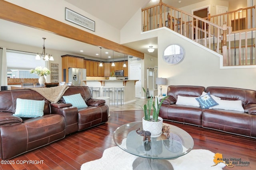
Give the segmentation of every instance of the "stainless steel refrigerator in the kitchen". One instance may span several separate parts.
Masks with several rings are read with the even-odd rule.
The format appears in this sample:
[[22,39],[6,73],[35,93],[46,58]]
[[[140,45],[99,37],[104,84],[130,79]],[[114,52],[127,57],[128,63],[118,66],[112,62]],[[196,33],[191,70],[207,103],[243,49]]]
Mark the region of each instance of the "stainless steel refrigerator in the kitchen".
[[82,80],[86,80],[86,69],[68,68],[68,82],[72,82],[73,86],[85,86]]

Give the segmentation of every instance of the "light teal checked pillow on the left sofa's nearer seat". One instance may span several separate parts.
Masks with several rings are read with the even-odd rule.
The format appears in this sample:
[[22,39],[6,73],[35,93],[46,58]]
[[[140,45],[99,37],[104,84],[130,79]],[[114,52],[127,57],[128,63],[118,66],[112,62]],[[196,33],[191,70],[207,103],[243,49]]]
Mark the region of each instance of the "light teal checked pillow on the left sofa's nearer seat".
[[40,117],[44,115],[44,100],[16,100],[16,111],[14,116],[18,117]]

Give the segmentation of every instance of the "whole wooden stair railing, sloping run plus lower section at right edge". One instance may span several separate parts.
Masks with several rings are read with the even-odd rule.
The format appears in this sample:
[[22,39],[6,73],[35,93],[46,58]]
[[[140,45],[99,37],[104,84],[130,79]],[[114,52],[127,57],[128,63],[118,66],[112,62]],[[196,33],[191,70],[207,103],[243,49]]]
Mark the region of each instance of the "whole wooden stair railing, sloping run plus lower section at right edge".
[[[224,66],[255,64],[255,57],[253,56],[255,53],[255,28],[251,28],[248,31],[232,32],[232,27],[227,26],[225,22],[217,25],[164,4],[162,0],[160,0],[159,4],[142,9],[142,17],[142,31],[149,31],[163,26],[168,27],[222,54]],[[249,41],[251,43],[248,43]],[[244,49],[244,53],[242,49]],[[245,51],[249,51],[248,49],[250,49],[250,53],[245,54]],[[237,51],[239,51],[238,54]],[[251,56],[249,60],[248,56]]]

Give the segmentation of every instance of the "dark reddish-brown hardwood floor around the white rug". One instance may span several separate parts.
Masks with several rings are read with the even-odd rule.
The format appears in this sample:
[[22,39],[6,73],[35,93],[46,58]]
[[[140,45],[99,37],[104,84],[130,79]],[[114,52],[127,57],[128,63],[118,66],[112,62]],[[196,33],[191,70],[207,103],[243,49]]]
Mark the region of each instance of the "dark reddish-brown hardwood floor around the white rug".
[[[141,121],[142,111],[110,112],[108,123],[86,129],[45,147],[32,150],[0,164],[2,170],[80,170],[83,163],[99,159],[109,147],[116,146],[112,135],[117,127]],[[192,125],[172,123],[187,131],[194,139],[193,149],[208,149],[223,154],[224,158],[241,158],[249,166],[225,167],[224,170],[256,170],[256,139],[222,133]],[[24,160],[30,162],[23,163]],[[36,164],[37,163],[37,164]]]

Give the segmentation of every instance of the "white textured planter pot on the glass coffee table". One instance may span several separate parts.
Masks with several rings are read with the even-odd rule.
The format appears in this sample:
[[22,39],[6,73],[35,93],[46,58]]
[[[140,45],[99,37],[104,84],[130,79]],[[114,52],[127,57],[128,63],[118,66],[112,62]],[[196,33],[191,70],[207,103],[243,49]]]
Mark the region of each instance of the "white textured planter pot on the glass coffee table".
[[[151,115],[150,118],[153,116]],[[159,137],[162,134],[163,119],[158,117],[160,121],[146,121],[144,117],[142,118],[142,127],[144,131],[150,131],[151,137]]]

